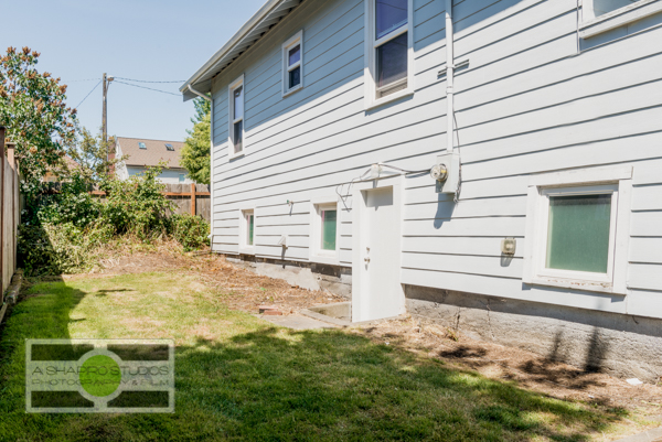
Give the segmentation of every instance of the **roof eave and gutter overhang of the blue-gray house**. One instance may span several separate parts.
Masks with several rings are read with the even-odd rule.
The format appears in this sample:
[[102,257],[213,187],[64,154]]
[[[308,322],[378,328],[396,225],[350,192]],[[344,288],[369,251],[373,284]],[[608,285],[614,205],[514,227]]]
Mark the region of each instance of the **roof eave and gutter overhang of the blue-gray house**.
[[282,18],[289,14],[302,0],[268,0],[218,52],[216,52],[186,83],[180,91],[184,100],[195,98],[189,85],[200,93],[212,89],[212,78],[260,40]]

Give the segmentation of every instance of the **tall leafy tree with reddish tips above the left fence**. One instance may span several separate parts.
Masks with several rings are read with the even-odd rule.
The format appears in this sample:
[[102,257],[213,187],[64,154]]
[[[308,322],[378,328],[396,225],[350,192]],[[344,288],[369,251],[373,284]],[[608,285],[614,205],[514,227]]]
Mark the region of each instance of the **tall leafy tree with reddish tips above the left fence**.
[[29,195],[76,140],[76,109],[65,105],[66,85],[35,69],[39,56],[30,47],[9,47],[0,57],[0,125],[17,143],[22,190]]

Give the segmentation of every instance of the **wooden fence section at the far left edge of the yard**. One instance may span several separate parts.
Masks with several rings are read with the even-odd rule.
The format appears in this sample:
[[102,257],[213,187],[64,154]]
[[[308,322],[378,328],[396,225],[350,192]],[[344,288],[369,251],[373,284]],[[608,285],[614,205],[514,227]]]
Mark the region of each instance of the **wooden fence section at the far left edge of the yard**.
[[13,145],[4,145],[4,128],[0,127],[0,304],[17,270],[17,235],[21,208],[19,200],[19,168]]

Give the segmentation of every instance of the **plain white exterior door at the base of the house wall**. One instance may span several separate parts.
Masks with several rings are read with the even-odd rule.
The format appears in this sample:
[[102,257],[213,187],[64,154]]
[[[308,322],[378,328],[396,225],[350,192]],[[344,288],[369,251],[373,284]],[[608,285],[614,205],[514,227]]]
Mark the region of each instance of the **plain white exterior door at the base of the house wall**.
[[397,316],[404,311],[399,284],[399,211],[394,204],[393,187],[361,192],[359,226],[361,272],[352,297],[352,321],[371,321]]

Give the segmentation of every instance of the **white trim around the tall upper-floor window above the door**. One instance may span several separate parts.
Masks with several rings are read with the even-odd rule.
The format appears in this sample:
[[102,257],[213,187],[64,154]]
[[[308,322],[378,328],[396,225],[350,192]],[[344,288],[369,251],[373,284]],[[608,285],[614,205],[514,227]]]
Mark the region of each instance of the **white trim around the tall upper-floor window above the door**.
[[[365,78],[365,110],[371,110],[387,103],[414,94],[414,0],[407,0],[407,24],[401,26],[387,36],[375,41],[375,0],[365,0],[365,56],[363,76]],[[376,98],[377,84],[375,47],[407,32],[407,87],[386,97]]]

